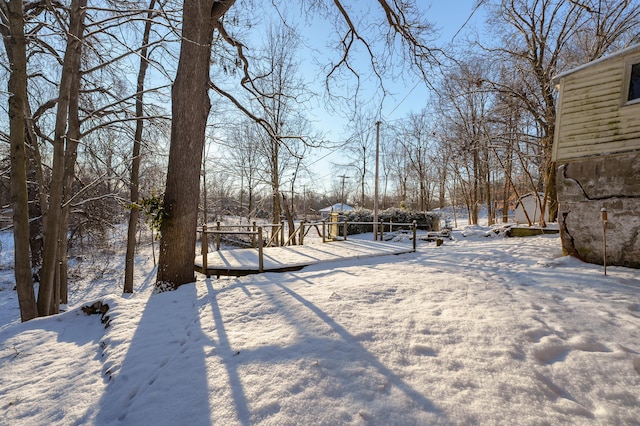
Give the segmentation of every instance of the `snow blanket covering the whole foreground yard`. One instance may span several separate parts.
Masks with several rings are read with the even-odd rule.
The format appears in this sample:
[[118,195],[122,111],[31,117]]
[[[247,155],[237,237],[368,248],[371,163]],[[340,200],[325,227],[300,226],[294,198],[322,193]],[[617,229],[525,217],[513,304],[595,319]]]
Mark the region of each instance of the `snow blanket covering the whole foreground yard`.
[[1,233],[0,424],[640,424],[638,271],[487,231],[160,294],[118,246],[27,323]]

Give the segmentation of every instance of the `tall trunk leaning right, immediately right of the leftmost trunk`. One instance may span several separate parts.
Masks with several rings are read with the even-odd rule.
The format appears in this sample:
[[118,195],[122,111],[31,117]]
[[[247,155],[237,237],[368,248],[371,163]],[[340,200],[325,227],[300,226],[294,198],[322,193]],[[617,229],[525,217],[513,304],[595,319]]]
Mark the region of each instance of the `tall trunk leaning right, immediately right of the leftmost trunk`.
[[[62,200],[65,175],[65,139],[67,138],[67,120],[69,115],[69,98],[73,78],[80,78],[80,56],[82,53],[82,29],[86,13],[87,0],[71,1],[71,16],[69,19],[69,35],[67,48],[62,65],[60,78],[60,92],[56,125],[53,141],[53,168],[51,172],[51,187],[49,189],[49,211],[45,227],[44,259],[40,276],[40,291],[38,292],[38,315],[46,316],[57,313],[54,294],[56,293],[56,275],[59,271],[58,239],[65,235],[60,229],[62,218]],[[75,74],[75,76],[74,76]]]

